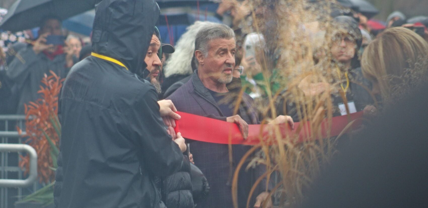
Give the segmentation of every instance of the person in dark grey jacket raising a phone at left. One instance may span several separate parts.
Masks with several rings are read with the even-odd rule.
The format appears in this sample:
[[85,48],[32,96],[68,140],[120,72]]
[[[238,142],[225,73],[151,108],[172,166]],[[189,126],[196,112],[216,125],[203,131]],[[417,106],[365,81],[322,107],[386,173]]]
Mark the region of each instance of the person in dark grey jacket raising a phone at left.
[[61,19],[46,16],[40,22],[39,37],[18,51],[16,57],[8,63],[7,77],[14,84],[18,93],[16,114],[24,114],[24,104],[39,98],[39,85],[44,74],[53,71],[65,78],[74,61],[72,56],[64,53],[65,38],[62,35]]

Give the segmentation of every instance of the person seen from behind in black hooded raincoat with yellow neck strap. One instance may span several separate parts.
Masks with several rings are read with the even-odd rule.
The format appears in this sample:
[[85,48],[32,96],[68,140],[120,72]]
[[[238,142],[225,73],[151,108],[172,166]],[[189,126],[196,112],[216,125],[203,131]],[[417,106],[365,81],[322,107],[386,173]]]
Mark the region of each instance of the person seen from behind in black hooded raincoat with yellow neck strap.
[[164,208],[155,175],[181,168],[145,68],[159,7],[153,0],[103,0],[92,55],[68,74],[59,98],[62,126],[54,189],[60,208]]

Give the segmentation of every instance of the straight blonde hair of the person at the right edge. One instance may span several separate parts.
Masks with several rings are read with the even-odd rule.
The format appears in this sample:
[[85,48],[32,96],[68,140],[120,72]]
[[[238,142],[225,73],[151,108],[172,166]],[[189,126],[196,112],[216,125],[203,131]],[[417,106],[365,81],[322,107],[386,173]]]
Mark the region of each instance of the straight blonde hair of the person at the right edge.
[[363,75],[377,81],[383,99],[388,99],[426,78],[427,59],[428,43],[421,36],[404,27],[392,27],[367,46],[361,66]]

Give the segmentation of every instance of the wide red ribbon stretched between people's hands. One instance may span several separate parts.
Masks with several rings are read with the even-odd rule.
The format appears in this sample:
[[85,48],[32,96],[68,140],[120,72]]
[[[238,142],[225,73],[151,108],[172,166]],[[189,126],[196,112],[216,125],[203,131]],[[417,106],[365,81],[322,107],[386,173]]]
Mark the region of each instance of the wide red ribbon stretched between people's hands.
[[[339,136],[351,121],[355,120],[351,125],[352,128],[360,127],[362,121],[359,118],[363,116],[363,112],[353,113],[349,116],[337,116],[332,118],[331,123],[324,119],[321,122],[321,128],[315,130],[314,135],[310,129],[310,121],[294,123],[294,130],[291,130],[288,124],[248,125],[248,137],[244,139],[237,124],[184,112],[177,113],[181,116],[181,119],[175,121],[175,132],[180,132],[184,138],[232,145],[257,145],[261,141],[271,144],[275,141],[267,141],[267,139],[274,139],[278,133],[281,134],[281,138],[287,138],[286,136],[289,135],[290,137],[288,138],[296,139],[295,142],[304,142],[308,138],[321,139],[329,136]],[[331,128],[329,124],[331,124]],[[279,128],[274,128],[274,125]],[[300,127],[300,125],[302,126]],[[298,139],[294,136],[297,133],[299,134]]]

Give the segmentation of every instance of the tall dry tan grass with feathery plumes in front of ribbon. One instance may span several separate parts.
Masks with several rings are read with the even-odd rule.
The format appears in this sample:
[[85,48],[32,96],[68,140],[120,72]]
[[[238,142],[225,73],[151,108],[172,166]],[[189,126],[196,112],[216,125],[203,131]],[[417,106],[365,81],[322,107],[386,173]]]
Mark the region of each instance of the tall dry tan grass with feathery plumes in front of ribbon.
[[[253,185],[251,194],[258,194],[253,191],[266,177],[276,181],[270,194],[279,200],[279,207],[295,207],[302,202],[313,179],[335,154],[337,138],[322,139],[321,125],[331,128],[333,113],[337,111],[332,97],[342,97],[347,103],[340,86],[345,77],[338,73],[342,66],[333,64],[330,55],[335,36],[347,32],[338,31],[338,27],[332,24],[330,12],[332,8],[345,8],[334,0],[316,3],[308,3],[307,0],[230,1],[235,5],[235,17],[239,18],[235,18],[235,25],[239,25],[243,33],[263,34],[266,41],[266,45],[260,45],[263,51],[256,52],[267,92],[262,99],[255,99],[264,118],[262,124],[276,118],[278,100],[282,99],[286,104],[280,108],[285,112],[297,112],[299,121],[309,121],[309,125],[300,126],[297,133],[312,130],[312,136],[305,138],[305,142],[297,142],[297,135],[284,138],[279,129],[273,127],[270,138],[261,140],[261,144],[254,146],[238,164],[232,185],[234,206],[238,207],[238,170],[262,164],[267,171]],[[279,84],[279,90],[272,89],[273,82]],[[255,92],[256,89],[252,90]],[[235,108],[235,112],[237,110]],[[349,114],[349,109],[347,111]],[[323,119],[328,122],[321,124]],[[269,145],[269,141],[274,145]],[[242,166],[245,160],[251,160],[249,167]],[[250,199],[247,202],[247,207],[253,206],[249,204]]]

